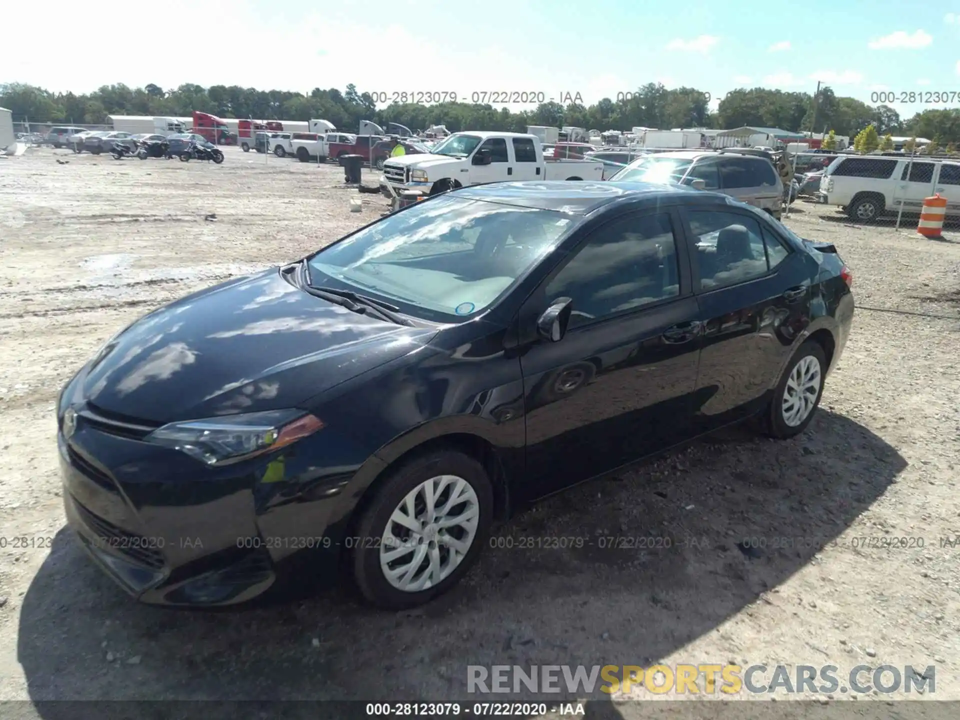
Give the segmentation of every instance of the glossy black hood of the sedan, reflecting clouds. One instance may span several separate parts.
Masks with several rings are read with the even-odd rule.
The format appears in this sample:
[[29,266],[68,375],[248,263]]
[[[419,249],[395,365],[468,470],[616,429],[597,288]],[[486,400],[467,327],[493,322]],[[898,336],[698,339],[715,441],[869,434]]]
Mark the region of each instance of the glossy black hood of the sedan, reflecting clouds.
[[295,407],[436,332],[350,312],[273,268],[133,323],[90,363],[83,395],[104,411],[157,423]]

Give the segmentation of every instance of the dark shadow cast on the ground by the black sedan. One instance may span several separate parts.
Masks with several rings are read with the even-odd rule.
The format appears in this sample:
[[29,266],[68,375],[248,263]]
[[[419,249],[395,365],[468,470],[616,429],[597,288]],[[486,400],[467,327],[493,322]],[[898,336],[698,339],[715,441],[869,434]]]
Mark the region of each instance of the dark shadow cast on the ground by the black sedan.
[[[828,409],[791,441],[734,428],[517,516],[463,583],[407,612],[345,592],[232,612],[147,607],[63,529],[22,598],[17,659],[35,703],[473,702],[484,698],[468,694],[468,665],[643,666],[777,588],[905,466]],[[58,707],[36,705],[48,720]],[[229,704],[204,709],[221,716],[238,715]]]

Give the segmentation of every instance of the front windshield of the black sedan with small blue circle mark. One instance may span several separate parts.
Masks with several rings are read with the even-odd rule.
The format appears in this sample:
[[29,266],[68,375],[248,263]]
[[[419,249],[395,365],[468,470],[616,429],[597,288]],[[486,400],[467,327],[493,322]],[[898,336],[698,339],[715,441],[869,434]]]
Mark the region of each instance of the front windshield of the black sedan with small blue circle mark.
[[573,226],[555,210],[438,197],[316,253],[310,278],[457,322],[491,306]]

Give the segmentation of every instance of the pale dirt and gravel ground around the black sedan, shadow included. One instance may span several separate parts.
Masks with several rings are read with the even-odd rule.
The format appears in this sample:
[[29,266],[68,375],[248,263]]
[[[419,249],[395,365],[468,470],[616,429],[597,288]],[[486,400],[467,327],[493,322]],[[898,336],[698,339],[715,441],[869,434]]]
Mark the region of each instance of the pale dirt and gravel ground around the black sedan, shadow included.
[[[841,678],[858,664],[935,665],[921,699],[960,700],[960,544],[941,540],[960,535],[960,232],[854,227],[804,203],[787,224],[836,243],[858,305],[804,435],[729,431],[495,531],[656,536],[669,549],[487,548],[461,586],[416,612],[343,593],[231,612],[133,602],[64,528],[60,387],[156,306],[296,259],[386,207],[342,180],[333,165],[235,149],[220,166],[48,149],[0,160],[0,534],[36,544],[0,546],[0,700],[34,701],[0,715],[54,717],[36,704],[47,700],[463,701],[468,664],[656,661],[832,664]],[[918,696],[859,700],[889,710],[882,701],[903,698]],[[628,700],[593,699],[587,714],[654,716]],[[782,717],[828,710],[778,705]],[[662,716],[684,712],[671,707]]]

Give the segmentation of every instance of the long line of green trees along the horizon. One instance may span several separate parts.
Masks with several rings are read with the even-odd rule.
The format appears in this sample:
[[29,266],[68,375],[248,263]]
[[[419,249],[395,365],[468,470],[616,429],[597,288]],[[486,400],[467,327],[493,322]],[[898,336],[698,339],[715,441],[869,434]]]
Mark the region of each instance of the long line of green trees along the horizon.
[[324,118],[338,128],[353,129],[360,120],[379,125],[395,122],[412,130],[445,125],[451,132],[492,130],[524,132],[527,125],[629,130],[649,128],[737,128],[760,126],[793,132],[828,132],[854,136],[870,125],[880,135],[916,135],[943,143],[960,142],[960,109],[930,109],[908,119],[894,108],[870,106],[855,98],[837,96],[824,87],[816,98],[806,92],[764,87],[729,92],[716,111],[709,96],[694,87],[667,89],[662,84],[641,85],[626,99],[604,98],[584,106],[543,103],[513,111],[491,105],[441,103],[394,104],[376,108],[369,92],[353,84],[346,90],[315,87],[309,94],[289,90],[257,90],[239,85],[181,84],[164,89],[156,84],[128,87],[104,85],[87,94],[54,93],[29,84],[0,84],[0,107],[12,110],[13,120],[36,123],[106,124],[108,115],[188,116],[193,110],[221,117],[262,120]]

